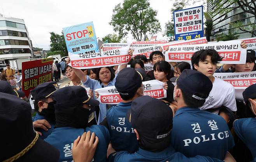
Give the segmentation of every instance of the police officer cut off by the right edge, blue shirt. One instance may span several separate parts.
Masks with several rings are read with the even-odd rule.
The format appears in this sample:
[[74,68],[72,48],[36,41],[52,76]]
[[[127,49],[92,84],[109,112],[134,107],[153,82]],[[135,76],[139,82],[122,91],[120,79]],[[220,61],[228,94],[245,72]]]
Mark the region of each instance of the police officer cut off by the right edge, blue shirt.
[[[250,85],[243,92],[246,106],[256,115],[256,84]],[[245,143],[252,153],[253,161],[256,161],[256,118],[241,118],[235,120],[233,128],[237,136]]]

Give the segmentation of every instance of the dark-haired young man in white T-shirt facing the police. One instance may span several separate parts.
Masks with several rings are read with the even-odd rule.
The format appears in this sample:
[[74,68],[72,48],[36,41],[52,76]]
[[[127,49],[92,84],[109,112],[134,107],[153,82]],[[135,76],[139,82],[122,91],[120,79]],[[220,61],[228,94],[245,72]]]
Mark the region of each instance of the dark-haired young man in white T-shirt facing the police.
[[[203,73],[210,79],[213,85],[209,97],[205,100],[205,103],[200,107],[200,109],[207,110],[215,114],[219,113],[222,106],[225,106],[231,111],[237,111],[234,87],[230,83],[213,76],[214,71],[216,70],[216,64],[221,60],[222,58],[214,49],[203,49],[197,51],[191,57],[193,70]],[[231,111],[228,116],[222,115],[226,122],[234,120]]]

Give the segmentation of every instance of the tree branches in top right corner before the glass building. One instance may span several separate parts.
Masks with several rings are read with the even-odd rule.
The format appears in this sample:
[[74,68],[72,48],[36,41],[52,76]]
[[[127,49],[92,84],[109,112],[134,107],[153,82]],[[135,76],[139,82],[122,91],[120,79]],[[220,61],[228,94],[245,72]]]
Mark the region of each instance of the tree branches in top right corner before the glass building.
[[231,12],[231,10],[237,8],[242,9],[245,13],[251,14],[254,17],[254,22],[233,22],[231,27],[239,28],[241,31],[251,33],[251,37],[256,36],[256,0],[207,0],[207,3],[214,5],[214,7],[208,11],[208,14],[211,17],[214,17],[217,14],[227,14],[228,12]]

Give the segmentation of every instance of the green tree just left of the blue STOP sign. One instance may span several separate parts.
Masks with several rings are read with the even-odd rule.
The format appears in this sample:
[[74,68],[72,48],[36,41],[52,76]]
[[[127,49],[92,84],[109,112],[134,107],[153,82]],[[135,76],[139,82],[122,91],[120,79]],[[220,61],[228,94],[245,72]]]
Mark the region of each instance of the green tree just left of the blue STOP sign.
[[[51,32],[50,34],[51,34],[51,37],[50,37],[50,39],[51,39],[51,44],[50,44],[51,52],[49,52],[49,54],[51,54],[51,55],[60,54],[61,57],[67,56],[68,50],[67,50],[67,46],[66,46],[63,31],[61,32],[61,35],[56,34],[54,32]],[[49,54],[47,54],[47,55],[49,55]]]

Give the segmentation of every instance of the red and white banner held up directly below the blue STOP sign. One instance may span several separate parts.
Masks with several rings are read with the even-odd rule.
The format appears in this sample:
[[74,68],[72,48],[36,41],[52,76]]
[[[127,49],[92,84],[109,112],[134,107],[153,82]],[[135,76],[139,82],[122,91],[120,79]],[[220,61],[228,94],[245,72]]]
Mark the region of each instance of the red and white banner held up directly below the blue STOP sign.
[[70,56],[71,66],[77,69],[99,68],[105,66],[115,66],[126,64],[131,56],[128,54],[128,47],[103,51],[91,54],[68,54]]

